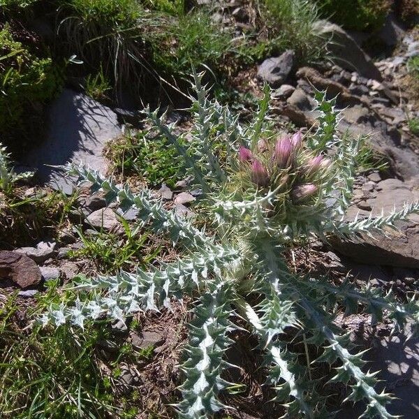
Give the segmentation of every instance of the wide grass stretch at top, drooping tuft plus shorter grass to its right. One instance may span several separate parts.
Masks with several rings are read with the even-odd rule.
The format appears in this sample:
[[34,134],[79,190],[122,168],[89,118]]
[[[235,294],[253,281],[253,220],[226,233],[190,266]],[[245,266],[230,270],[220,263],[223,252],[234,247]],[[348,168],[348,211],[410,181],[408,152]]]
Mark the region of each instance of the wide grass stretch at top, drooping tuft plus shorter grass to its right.
[[[147,6],[149,9],[147,9]],[[231,52],[229,31],[210,13],[184,2],[68,0],[59,8],[58,34],[67,54],[76,54],[90,73],[102,71],[115,88],[141,91],[170,78],[183,78],[191,66],[216,71]]]

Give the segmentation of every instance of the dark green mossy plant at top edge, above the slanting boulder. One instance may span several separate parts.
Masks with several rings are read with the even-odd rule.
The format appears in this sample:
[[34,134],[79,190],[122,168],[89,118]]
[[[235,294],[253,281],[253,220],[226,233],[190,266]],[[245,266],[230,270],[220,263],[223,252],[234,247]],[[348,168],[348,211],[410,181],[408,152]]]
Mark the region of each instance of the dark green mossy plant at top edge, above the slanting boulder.
[[390,0],[317,0],[324,17],[346,29],[380,29],[390,13]]

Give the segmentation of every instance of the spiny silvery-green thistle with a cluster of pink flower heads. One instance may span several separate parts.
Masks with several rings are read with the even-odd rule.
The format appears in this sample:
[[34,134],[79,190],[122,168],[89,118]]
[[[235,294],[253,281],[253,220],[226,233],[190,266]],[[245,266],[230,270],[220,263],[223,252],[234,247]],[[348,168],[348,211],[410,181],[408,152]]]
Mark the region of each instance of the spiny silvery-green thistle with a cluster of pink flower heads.
[[[39,321],[82,328],[102,316],[124,320],[139,310],[170,309],[172,300],[190,295],[196,304],[182,365],[182,402],[175,406],[179,418],[207,418],[228,409],[221,401],[232,385],[226,381],[226,369],[233,367],[226,350],[233,344],[231,332],[243,330],[243,319],[258,338],[266,385],[274,402],[284,404],[286,417],[328,415],[319,392],[325,381],[311,374],[313,367],[327,363],[335,369],[330,381],[347,386],[346,399],[365,401],[364,417],[392,418],[385,409],[390,395],[376,392],[376,374],[362,369],[362,353],[354,350],[334,316],[341,309],[351,313],[362,307],[373,321],[387,316],[395,329],[402,329],[409,318],[418,323],[416,300],[400,304],[390,293],[361,289],[349,280],[337,286],[327,277],[296,274],[286,255],[310,237],[328,240],[330,235],[395,227],[419,212],[419,203],[406,203],[388,216],[345,221],[364,139],[337,135],[335,100],[317,91],[316,127],[306,135],[278,135],[267,119],[268,88],[255,120],[243,126],[227,107],[208,98],[201,80],[202,75],[194,75],[191,132],[177,135],[173,124],[164,123],[165,115],[146,112],[154,129],[177,149],[193,186],[202,189],[196,218],[206,228],[166,210],[150,191],[133,193],[97,171],[69,165],[68,174],[89,182],[92,193],[105,193],[122,210],[134,208],[138,223],[170,236],[184,251],[159,267],[88,279],[75,287],[75,304],[52,304]],[[302,362],[292,341],[304,341],[317,358]]]

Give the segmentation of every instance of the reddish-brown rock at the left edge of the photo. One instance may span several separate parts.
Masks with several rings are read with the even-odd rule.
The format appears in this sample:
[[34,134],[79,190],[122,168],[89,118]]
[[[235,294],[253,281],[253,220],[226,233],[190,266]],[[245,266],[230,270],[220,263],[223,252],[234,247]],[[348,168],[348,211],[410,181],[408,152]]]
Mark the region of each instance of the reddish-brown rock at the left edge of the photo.
[[21,288],[28,288],[39,284],[41,270],[29,256],[15,251],[1,250],[0,279],[11,279]]

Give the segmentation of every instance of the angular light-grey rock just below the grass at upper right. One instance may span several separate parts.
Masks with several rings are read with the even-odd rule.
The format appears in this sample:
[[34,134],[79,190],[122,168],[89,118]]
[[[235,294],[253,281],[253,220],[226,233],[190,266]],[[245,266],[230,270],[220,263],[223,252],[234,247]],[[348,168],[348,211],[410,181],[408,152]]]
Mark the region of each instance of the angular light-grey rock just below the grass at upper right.
[[258,68],[258,78],[270,84],[274,89],[284,84],[293,69],[295,52],[287,50],[279,57],[265,59]]

